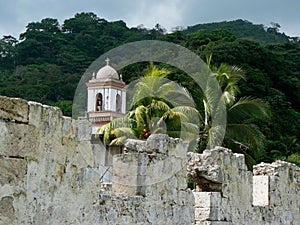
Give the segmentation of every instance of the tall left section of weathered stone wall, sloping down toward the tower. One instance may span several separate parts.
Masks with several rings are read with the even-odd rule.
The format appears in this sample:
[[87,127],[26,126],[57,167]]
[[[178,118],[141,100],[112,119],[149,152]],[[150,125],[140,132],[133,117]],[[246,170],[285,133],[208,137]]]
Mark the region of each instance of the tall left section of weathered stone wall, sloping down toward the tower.
[[93,224],[95,146],[84,121],[0,97],[0,224]]

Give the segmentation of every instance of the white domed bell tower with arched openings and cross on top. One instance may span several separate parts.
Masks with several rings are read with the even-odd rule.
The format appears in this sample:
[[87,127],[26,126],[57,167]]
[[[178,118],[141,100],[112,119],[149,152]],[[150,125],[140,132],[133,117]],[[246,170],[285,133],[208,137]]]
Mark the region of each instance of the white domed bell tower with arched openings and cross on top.
[[93,124],[93,134],[102,125],[126,113],[126,86],[117,71],[109,65],[102,67],[87,85],[87,112]]

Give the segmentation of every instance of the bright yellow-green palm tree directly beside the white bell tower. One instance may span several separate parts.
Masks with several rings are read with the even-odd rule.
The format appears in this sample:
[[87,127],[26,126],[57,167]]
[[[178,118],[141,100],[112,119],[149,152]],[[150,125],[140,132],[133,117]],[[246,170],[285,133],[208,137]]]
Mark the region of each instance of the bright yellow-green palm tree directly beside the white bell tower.
[[122,145],[127,138],[147,139],[153,133],[185,140],[197,138],[200,114],[189,92],[166,79],[169,73],[150,63],[143,77],[130,88],[129,113],[100,128],[105,144]]

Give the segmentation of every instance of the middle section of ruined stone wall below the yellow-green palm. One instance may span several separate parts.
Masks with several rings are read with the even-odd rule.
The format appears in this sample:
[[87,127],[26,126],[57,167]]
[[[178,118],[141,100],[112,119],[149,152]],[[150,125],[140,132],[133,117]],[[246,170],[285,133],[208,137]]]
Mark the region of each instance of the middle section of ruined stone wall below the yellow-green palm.
[[186,149],[178,139],[151,135],[128,140],[114,157],[112,189],[100,194],[100,224],[194,224],[187,188]]

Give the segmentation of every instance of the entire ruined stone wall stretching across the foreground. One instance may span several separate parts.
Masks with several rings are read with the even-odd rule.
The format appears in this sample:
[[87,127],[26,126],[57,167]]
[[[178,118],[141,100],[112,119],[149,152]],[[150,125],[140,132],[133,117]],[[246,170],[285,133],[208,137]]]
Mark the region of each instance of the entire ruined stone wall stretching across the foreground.
[[104,184],[107,150],[88,122],[0,97],[0,225],[300,224],[299,167],[278,161],[252,173],[228,149],[186,149],[166,135],[128,140]]

